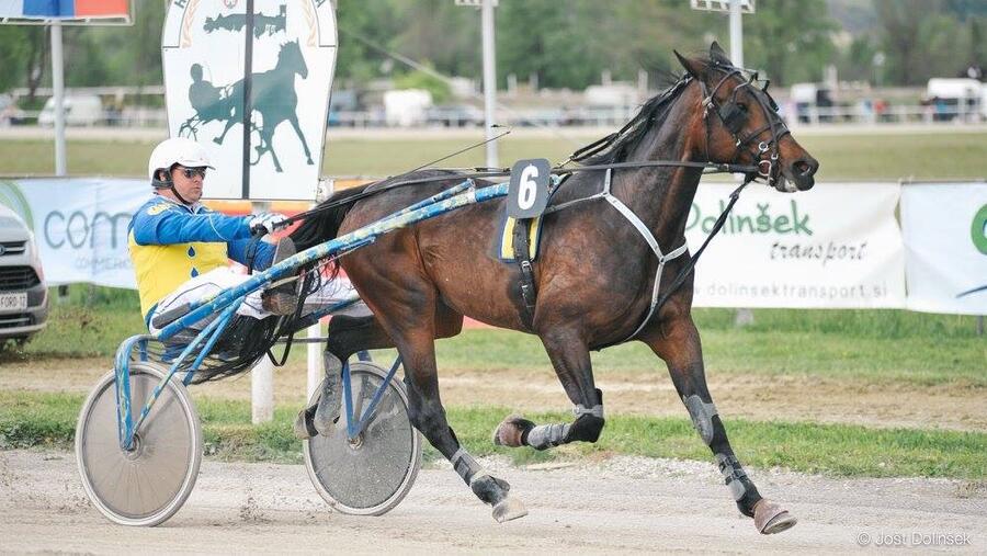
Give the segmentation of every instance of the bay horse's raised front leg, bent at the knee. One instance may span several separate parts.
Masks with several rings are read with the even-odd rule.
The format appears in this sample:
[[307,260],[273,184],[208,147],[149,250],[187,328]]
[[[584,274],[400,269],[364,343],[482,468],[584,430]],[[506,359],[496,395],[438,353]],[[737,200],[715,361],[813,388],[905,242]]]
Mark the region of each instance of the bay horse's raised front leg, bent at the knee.
[[507,417],[494,431],[498,446],[547,450],[569,442],[595,442],[603,430],[603,393],[593,383],[589,350],[575,330],[555,329],[542,336],[555,373],[572,401],[571,423],[535,424],[521,416]]

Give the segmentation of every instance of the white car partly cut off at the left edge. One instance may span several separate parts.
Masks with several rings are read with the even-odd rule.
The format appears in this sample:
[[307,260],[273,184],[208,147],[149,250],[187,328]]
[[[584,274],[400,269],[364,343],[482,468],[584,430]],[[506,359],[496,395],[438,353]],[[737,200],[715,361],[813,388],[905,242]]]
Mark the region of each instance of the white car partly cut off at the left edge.
[[25,342],[48,320],[48,288],[34,235],[0,205],[0,351],[8,340]]

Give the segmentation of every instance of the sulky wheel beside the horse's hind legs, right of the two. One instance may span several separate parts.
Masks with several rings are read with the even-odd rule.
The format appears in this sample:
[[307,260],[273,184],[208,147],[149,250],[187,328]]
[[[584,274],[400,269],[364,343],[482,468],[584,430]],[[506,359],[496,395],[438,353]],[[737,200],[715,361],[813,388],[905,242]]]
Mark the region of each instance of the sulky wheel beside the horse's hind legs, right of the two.
[[[350,365],[354,415],[370,406],[386,376],[387,371],[373,363]],[[386,513],[405,498],[421,467],[421,435],[408,418],[404,384],[390,381],[363,433],[353,441],[347,438],[345,407],[342,412],[332,435],[303,442],[308,476],[319,495],[341,513]]]

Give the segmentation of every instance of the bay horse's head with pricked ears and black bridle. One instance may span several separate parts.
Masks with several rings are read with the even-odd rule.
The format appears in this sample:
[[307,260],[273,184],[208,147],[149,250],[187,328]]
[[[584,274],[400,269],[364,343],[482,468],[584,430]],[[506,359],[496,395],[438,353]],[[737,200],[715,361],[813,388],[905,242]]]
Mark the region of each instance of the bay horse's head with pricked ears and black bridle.
[[703,121],[696,133],[705,135],[708,161],[757,164],[757,175],[779,191],[815,184],[819,162],[792,137],[767,82],[758,87],[757,73],[735,68],[715,42],[708,58],[676,56],[701,91]]

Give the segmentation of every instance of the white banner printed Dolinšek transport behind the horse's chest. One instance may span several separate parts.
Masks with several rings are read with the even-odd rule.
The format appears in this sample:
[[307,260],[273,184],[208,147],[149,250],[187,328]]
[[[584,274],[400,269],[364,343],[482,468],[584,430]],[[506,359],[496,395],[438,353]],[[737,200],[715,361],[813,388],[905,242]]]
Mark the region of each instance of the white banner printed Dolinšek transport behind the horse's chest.
[[[700,185],[685,230],[692,252],[736,186]],[[794,194],[749,185],[700,259],[694,304],[904,307],[904,249],[895,222],[899,191],[896,183],[816,184]]]

